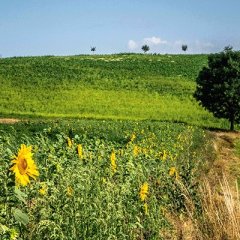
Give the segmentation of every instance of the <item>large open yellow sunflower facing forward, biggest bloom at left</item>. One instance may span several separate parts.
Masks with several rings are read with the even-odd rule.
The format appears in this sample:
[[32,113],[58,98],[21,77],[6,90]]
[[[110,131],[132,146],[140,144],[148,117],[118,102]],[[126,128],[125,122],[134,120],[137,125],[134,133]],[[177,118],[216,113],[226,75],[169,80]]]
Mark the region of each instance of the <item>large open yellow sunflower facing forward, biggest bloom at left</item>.
[[27,147],[25,144],[21,145],[18,155],[14,156],[12,163],[14,164],[10,170],[15,173],[16,185],[26,186],[30,183],[29,177],[36,179],[39,176],[37,166],[32,159],[32,147]]

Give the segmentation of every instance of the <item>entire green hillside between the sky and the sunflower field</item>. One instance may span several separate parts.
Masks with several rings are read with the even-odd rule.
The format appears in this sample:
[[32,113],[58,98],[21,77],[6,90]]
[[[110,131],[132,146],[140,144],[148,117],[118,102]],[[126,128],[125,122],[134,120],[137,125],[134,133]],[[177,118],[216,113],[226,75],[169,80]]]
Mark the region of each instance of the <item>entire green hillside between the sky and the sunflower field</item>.
[[167,120],[226,127],[192,99],[206,55],[0,59],[0,114]]

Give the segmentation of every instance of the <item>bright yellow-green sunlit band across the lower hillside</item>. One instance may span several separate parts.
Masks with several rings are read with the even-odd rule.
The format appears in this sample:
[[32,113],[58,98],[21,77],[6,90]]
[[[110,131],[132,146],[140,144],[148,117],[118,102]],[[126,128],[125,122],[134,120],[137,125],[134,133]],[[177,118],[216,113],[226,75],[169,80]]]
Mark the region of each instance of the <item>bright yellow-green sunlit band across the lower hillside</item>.
[[3,95],[0,106],[2,114],[31,117],[151,119],[226,127],[226,121],[214,119],[191,98],[138,91],[13,89]]

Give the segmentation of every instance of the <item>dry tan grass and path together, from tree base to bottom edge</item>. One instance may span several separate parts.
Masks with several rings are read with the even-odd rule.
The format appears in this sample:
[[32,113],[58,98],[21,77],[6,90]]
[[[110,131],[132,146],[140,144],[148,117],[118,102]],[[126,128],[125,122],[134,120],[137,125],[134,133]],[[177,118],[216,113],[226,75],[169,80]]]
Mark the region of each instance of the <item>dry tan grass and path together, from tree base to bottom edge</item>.
[[234,141],[239,138],[239,133],[214,133],[216,159],[210,163],[208,173],[201,180],[200,213],[187,188],[179,182],[186,200],[187,214],[169,217],[176,229],[176,236],[172,239],[240,239],[239,175],[235,174],[240,159],[234,155]]

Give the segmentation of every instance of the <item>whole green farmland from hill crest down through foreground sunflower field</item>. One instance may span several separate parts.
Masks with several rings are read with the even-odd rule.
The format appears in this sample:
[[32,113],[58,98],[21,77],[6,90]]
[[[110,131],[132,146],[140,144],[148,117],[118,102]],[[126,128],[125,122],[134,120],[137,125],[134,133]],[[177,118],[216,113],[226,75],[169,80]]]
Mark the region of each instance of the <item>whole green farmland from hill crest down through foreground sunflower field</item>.
[[23,120],[0,123],[0,239],[233,236],[214,228],[220,210],[206,207],[216,195],[202,191],[216,158],[205,128],[229,125],[192,97],[206,64],[207,55],[0,59],[0,115]]

